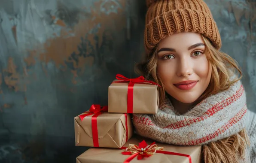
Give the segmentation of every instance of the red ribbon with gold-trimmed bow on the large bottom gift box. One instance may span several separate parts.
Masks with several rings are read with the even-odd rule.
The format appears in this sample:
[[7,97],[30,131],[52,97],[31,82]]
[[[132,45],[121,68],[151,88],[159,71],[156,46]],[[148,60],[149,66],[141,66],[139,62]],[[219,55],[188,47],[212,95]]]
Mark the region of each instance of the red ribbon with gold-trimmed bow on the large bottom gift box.
[[[125,149],[125,152],[122,152],[122,154],[125,155],[131,155],[130,157],[128,157],[124,163],[130,163],[131,160],[133,160],[136,156],[138,160],[143,159],[143,157],[150,157],[152,156],[152,154],[148,154],[148,150],[150,150],[150,148],[155,145],[155,142],[153,142],[151,145],[147,145],[145,140],[143,140],[142,142],[139,143],[139,146],[137,145],[130,145],[130,150],[127,150],[127,147],[122,147],[120,149]],[[159,148],[159,147],[158,147]],[[131,150],[133,152],[131,152]],[[160,149],[162,150],[162,149]],[[191,156],[188,154],[180,154],[180,153],[176,153],[176,152],[170,152],[170,151],[160,151],[160,150],[156,150],[153,151],[153,153],[160,153],[160,154],[171,154],[171,155],[176,155],[176,156],[184,156],[184,157],[188,157],[189,158],[189,163],[192,163],[192,159]],[[135,151],[135,152],[134,152]],[[137,152],[137,153],[136,153]],[[150,151],[152,153],[152,151]]]

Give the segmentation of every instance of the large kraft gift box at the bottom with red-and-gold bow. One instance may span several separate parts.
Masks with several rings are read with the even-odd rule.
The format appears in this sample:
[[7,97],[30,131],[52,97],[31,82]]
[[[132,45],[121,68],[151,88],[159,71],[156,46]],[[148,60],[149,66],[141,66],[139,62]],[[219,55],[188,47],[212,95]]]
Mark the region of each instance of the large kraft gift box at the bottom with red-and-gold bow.
[[76,158],[76,163],[201,163],[201,146],[174,146],[152,142],[150,139],[145,139],[144,142],[143,138],[134,136],[122,149],[90,148]]

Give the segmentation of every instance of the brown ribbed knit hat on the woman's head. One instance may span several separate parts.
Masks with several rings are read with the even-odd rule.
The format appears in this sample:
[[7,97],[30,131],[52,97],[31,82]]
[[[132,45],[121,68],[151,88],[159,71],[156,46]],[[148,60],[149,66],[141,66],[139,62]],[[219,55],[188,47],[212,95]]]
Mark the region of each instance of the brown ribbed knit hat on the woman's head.
[[146,0],[146,5],[144,41],[147,54],[161,39],[178,32],[203,34],[220,49],[219,30],[203,0]]

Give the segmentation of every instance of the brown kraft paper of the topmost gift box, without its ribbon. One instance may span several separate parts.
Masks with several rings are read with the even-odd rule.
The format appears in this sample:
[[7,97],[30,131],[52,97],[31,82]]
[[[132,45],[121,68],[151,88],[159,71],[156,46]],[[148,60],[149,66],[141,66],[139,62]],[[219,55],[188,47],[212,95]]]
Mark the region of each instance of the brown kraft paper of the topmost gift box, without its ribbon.
[[[118,81],[118,80],[114,80]],[[127,113],[129,82],[112,83],[108,88],[108,112]],[[158,86],[135,83],[133,88],[133,113],[155,114],[158,110]]]

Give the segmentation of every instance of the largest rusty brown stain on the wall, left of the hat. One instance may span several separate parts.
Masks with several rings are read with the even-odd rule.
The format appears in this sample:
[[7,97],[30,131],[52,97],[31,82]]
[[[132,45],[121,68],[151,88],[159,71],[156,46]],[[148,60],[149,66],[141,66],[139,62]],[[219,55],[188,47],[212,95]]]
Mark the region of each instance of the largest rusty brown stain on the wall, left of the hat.
[[[88,20],[80,21],[79,24],[77,24],[73,30],[75,36],[63,38],[63,36],[67,36],[67,33],[64,30],[62,30],[60,37],[48,39],[44,45],[46,53],[40,54],[39,59],[45,63],[48,63],[52,60],[55,62],[55,65],[58,68],[59,66],[66,66],[65,61],[68,59],[68,57],[70,57],[70,54],[72,54],[73,52],[79,53],[77,46],[81,42],[81,37],[87,35],[88,32],[91,29],[95,28],[96,25],[100,22],[103,27],[100,27],[98,29],[98,33],[96,34],[99,36],[98,44],[101,45],[105,26],[111,25],[111,22],[107,21],[107,15],[96,15],[95,17],[96,18],[91,20],[91,22],[88,22]],[[93,45],[93,47],[96,48],[96,40],[94,39],[94,36],[95,34],[88,34],[87,39],[91,42],[91,45]],[[93,64],[93,60],[91,58],[85,58],[83,62],[92,62],[91,64]],[[79,64],[78,66],[81,66],[81,64]]]

